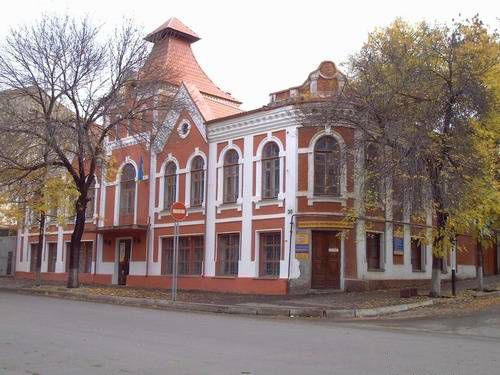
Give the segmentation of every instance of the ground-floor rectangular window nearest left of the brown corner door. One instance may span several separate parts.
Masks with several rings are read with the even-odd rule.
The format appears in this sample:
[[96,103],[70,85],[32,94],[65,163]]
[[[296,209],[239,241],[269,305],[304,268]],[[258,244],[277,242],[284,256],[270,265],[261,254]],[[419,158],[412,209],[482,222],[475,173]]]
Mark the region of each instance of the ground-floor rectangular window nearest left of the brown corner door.
[[261,233],[259,238],[260,276],[279,277],[281,260],[281,233]]

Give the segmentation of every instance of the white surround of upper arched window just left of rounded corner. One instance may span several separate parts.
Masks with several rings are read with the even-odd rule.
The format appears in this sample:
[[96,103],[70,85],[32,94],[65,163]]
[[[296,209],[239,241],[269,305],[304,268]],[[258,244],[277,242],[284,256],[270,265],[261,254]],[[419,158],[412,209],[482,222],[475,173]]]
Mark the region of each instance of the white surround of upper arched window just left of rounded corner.
[[[280,152],[279,152],[279,164],[280,164],[280,177],[279,177],[279,193],[277,199],[262,199],[262,151],[266,144],[273,142],[275,143]],[[258,148],[257,153],[254,157],[255,162],[255,196],[253,197],[253,202],[256,203],[256,208],[261,206],[270,206],[270,205],[278,205],[280,207],[283,206],[283,200],[285,199],[285,181],[284,181],[284,166],[285,166],[285,149],[283,144],[279,140],[279,138],[268,134],[266,138],[264,138]]]

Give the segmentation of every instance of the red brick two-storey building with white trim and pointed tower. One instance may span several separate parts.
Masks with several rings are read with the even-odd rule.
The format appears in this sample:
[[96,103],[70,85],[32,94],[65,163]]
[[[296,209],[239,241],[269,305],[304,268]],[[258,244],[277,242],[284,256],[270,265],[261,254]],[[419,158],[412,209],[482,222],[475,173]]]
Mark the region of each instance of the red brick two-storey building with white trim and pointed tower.
[[[180,225],[179,287],[285,294],[311,288],[360,289],[427,282],[431,277],[432,216],[412,222],[390,199],[380,214],[356,222],[362,210],[365,158],[345,150],[357,137],[348,126],[303,127],[291,103],[327,97],[343,84],[325,61],[297,87],[272,93],[270,103],[244,112],[199,66],[199,37],[172,18],[146,36],[150,59],[178,73],[173,109],[150,149],[122,129],[107,149],[119,168],[114,180],[96,176],[80,257],[82,282],[170,287],[172,202],[188,216]],[[343,160],[344,162],[340,162]],[[104,174],[105,171],[102,172]],[[386,195],[386,192],[384,193]],[[382,215],[382,216],[380,216]],[[42,276],[66,280],[72,225],[49,223]],[[17,240],[16,275],[33,277],[37,230],[26,223]],[[472,239],[459,236],[461,278],[475,276]],[[498,271],[498,250],[485,271]]]

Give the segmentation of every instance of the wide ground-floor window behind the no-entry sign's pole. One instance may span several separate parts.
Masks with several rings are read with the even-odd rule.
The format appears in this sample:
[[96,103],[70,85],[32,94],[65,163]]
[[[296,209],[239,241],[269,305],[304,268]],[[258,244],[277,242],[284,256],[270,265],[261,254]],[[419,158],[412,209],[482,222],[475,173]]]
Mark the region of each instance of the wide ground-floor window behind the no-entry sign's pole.
[[[162,238],[161,274],[173,273],[174,238]],[[203,236],[179,237],[179,275],[201,275],[203,270]]]

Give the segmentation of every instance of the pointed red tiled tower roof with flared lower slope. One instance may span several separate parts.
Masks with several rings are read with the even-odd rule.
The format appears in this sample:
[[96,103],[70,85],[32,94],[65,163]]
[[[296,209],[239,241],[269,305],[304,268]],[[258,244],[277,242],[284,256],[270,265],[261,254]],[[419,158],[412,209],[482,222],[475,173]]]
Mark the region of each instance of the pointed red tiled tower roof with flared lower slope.
[[170,84],[180,87],[184,83],[191,92],[199,91],[211,109],[207,117],[241,112],[241,102],[215,85],[196,60],[191,44],[200,37],[193,30],[172,17],[145,39],[154,43],[146,66],[164,71]]

